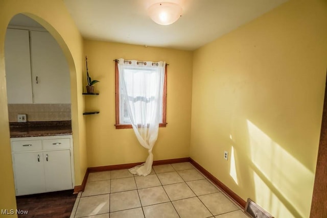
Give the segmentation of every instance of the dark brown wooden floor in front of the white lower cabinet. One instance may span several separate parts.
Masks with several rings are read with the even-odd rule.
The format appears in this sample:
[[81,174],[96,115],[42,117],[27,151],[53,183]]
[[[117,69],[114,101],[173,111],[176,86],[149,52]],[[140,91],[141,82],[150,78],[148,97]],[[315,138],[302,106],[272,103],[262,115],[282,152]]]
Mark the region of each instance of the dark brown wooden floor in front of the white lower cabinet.
[[28,214],[18,217],[69,217],[77,195],[72,190],[17,196],[17,209],[28,210]]

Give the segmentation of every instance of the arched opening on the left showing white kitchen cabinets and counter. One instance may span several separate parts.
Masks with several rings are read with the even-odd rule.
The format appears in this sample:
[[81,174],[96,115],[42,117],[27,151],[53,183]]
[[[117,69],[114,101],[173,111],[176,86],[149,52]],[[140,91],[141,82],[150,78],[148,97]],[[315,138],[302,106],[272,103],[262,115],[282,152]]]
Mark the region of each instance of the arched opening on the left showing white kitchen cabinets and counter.
[[[73,189],[71,82],[59,44],[38,22],[17,14],[6,31],[5,65],[16,196]],[[46,146],[49,140],[58,146]]]

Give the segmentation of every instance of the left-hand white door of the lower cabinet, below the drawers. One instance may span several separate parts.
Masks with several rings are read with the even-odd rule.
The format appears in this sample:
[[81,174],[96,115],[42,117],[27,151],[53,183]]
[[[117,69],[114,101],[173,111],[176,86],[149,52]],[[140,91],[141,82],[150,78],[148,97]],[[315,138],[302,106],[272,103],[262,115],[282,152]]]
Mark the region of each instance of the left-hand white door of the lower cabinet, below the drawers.
[[16,196],[45,192],[42,152],[13,154]]

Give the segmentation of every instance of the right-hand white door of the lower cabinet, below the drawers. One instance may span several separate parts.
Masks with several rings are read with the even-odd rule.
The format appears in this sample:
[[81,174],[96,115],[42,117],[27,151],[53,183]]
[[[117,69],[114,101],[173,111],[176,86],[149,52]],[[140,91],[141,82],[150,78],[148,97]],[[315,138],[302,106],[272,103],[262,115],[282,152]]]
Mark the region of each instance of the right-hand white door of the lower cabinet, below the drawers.
[[46,191],[72,189],[71,153],[69,150],[43,152]]

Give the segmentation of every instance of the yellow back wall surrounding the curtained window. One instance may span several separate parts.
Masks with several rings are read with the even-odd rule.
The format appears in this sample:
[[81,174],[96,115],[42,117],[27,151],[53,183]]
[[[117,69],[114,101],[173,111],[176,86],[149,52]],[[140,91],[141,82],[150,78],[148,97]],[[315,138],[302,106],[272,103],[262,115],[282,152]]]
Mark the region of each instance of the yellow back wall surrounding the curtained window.
[[143,162],[147,150],[138,143],[132,129],[115,124],[115,83],[113,59],[166,61],[167,127],[159,128],[153,149],[154,160],[189,157],[192,98],[192,52],[101,41],[84,41],[88,70],[98,96],[85,96],[87,109],[100,110],[88,115],[87,158],[89,166]]

